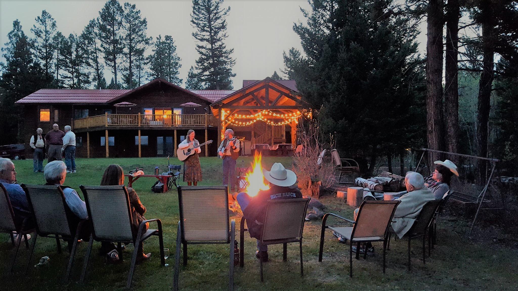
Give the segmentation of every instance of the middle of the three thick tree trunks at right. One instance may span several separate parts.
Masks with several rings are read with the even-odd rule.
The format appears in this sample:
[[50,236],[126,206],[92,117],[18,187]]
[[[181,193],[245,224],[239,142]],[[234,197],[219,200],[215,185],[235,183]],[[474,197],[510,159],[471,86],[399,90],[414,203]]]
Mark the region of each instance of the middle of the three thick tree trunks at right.
[[[458,153],[458,20],[460,9],[458,0],[448,0],[446,12],[446,57],[445,57],[445,90],[444,112],[446,114],[445,148],[448,152]],[[454,156],[450,157],[454,158]],[[455,162],[455,161],[454,161]]]

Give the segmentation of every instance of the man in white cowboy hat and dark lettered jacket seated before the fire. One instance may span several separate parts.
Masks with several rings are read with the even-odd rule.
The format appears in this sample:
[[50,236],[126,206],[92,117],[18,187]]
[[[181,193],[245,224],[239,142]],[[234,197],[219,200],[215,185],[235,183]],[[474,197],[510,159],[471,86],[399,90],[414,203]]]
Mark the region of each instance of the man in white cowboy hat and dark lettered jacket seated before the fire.
[[[266,215],[267,201],[271,199],[295,199],[302,198],[302,193],[297,188],[291,188],[297,181],[297,175],[286,170],[281,163],[275,163],[271,170],[263,169],[264,178],[270,182],[268,190],[262,190],[257,196],[250,197],[247,193],[239,193],[237,202],[247,220],[250,236],[260,239],[263,233],[264,216]],[[257,240],[255,256],[263,261],[268,261],[268,247]]]

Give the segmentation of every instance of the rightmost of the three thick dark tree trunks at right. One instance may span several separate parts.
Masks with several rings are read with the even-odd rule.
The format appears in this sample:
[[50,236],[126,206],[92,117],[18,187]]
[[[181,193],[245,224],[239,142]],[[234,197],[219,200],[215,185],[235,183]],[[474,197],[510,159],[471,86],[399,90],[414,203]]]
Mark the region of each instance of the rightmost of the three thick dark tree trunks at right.
[[[489,127],[489,113],[491,88],[493,84],[493,68],[495,59],[495,39],[494,39],[494,19],[493,7],[490,0],[484,0],[480,4],[482,13],[482,53],[484,55],[483,71],[479,81],[479,100],[478,100],[478,115],[477,115],[477,146],[478,156],[487,157],[488,146],[488,127]],[[483,177],[485,173],[485,163],[480,163],[480,175]]]

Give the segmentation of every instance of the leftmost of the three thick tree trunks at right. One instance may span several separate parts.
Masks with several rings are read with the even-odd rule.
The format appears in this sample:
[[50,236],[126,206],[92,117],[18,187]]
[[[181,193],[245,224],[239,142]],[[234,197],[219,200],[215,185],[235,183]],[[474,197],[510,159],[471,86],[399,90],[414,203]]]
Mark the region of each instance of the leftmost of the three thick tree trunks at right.
[[[444,128],[442,125],[442,27],[443,0],[428,2],[426,42],[426,119],[428,148],[442,151]],[[430,164],[439,155],[430,154]]]

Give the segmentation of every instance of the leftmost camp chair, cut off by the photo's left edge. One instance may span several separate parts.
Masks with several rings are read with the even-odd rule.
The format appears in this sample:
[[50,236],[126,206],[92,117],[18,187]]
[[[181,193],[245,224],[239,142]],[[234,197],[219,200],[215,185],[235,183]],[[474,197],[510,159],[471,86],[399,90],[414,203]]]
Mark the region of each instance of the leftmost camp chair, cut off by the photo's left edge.
[[[27,241],[27,234],[31,234],[36,231],[36,229],[26,229],[29,218],[25,218],[22,222],[22,225],[17,225],[15,223],[15,212],[12,211],[11,201],[9,200],[9,194],[5,189],[4,185],[0,183],[0,188],[4,195],[0,194],[0,232],[5,232],[9,234],[11,237],[11,243],[13,246],[16,246],[15,255],[12,258],[11,262],[11,272],[12,268],[15,267],[16,256],[18,255],[18,250],[20,249],[20,244],[22,242],[22,236],[25,238],[25,248],[29,248],[29,243]],[[17,234],[16,243],[13,234]]]

